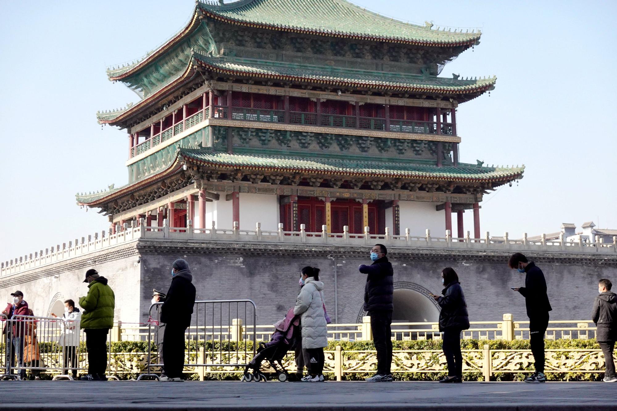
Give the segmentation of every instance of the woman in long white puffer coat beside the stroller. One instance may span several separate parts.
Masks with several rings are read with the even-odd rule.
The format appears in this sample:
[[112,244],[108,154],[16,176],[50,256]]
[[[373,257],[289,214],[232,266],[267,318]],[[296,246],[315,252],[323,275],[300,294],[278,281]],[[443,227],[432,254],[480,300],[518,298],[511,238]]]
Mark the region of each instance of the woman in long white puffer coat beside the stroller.
[[323,283],[319,281],[319,268],[304,267],[300,277],[304,283],[296,299],[294,314],[300,315],[302,326],[302,351],[309,374],[302,381],[323,381],[323,347],[328,346],[328,328],[323,302]]

